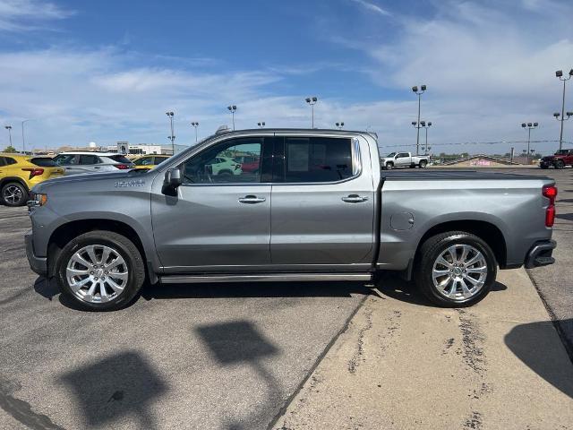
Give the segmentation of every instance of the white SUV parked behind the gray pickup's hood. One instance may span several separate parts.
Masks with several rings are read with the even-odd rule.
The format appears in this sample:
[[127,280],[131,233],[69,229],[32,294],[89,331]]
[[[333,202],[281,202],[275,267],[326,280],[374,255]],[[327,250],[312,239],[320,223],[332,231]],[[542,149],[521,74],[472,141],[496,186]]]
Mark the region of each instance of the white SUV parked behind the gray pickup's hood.
[[56,155],[54,162],[65,168],[65,175],[121,172],[135,168],[130,159],[115,152],[68,151]]

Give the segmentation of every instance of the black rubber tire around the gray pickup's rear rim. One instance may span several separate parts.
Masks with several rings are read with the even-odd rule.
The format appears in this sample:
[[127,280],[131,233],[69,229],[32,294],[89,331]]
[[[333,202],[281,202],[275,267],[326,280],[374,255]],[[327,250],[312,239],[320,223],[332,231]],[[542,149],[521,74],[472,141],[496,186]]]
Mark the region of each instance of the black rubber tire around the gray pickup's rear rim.
[[[449,298],[442,294],[439,288],[434,285],[432,277],[434,262],[436,262],[441,254],[447,252],[448,248],[452,245],[470,245],[483,255],[486,262],[487,272],[483,286],[481,289],[477,289],[475,295],[472,297],[460,297],[459,299]],[[465,231],[449,231],[428,238],[420,248],[415,263],[415,283],[417,287],[420,288],[423,295],[428,297],[434,305],[439,305],[440,307],[466,307],[475,305],[490,292],[496,275],[497,262],[492,248],[480,237]],[[444,276],[447,278],[449,275]],[[454,285],[456,284],[454,283]]]

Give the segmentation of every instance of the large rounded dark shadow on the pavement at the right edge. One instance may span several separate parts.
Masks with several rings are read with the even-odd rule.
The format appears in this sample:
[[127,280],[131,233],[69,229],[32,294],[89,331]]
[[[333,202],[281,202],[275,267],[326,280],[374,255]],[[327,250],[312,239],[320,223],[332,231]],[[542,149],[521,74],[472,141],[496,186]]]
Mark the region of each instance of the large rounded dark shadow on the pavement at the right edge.
[[[573,319],[555,322],[562,330],[573,329]],[[509,331],[504,341],[508,348],[526,366],[551,383],[555,388],[573,398],[573,366],[570,357],[560,348],[560,340],[555,336],[552,321],[540,321],[517,325]],[[556,343],[559,342],[559,345]],[[570,349],[571,345],[569,345]],[[573,352],[569,350],[569,354]]]

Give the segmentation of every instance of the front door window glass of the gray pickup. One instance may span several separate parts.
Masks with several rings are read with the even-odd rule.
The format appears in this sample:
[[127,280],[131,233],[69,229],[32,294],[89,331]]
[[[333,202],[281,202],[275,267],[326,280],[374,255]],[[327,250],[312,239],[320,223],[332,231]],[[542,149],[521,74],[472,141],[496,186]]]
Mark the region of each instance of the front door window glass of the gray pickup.
[[[184,184],[236,184],[261,181],[262,138],[239,138],[202,151],[182,165]],[[257,162],[241,162],[252,157]]]

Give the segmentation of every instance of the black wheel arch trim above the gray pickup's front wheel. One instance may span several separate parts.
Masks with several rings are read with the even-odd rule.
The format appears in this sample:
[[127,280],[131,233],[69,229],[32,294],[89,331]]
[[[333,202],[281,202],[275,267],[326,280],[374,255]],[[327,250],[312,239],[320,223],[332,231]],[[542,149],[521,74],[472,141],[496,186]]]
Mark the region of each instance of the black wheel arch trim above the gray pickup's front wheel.
[[137,247],[139,252],[141,253],[141,259],[146,266],[146,274],[150,277],[149,279],[152,281],[157,278],[155,271],[152,271],[152,264],[146,258],[145,248],[143,247],[143,243],[141,242],[141,237],[131,227],[129,224],[123,221],[117,221],[112,219],[76,219],[73,221],[66,222],[61,226],[58,226],[50,235],[50,238],[47,242],[47,276],[51,278],[56,275],[56,267],[58,263],[58,259],[60,254],[62,254],[62,250],[64,246],[68,244],[74,237],[80,236],[84,233],[88,233],[90,231],[111,231],[117,233],[118,235],[122,235],[127,237],[129,240],[133,242],[133,245]]

